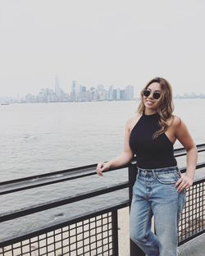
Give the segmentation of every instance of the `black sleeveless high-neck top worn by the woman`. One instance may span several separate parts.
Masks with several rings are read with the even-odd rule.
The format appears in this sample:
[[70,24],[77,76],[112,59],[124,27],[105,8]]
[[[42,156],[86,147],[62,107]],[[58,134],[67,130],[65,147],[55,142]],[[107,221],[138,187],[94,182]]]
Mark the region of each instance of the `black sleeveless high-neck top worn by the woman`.
[[136,154],[137,166],[142,169],[175,167],[174,148],[166,134],[153,139],[153,134],[160,130],[159,114],[145,115],[139,118],[130,133],[130,148]]

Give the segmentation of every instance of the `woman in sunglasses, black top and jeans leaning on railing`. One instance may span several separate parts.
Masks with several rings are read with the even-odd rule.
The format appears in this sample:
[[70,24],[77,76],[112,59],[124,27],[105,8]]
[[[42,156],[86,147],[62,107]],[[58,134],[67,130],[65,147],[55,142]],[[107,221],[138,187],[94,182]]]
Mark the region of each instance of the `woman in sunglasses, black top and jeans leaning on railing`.
[[[141,92],[136,117],[126,123],[125,150],[109,162],[99,162],[97,173],[128,164],[136,155],[138,174],[130,209],[130,238],[148,256],[177,255],[177,227],[185,205],[185,190],[194,181],[197,149],[185,123],[173,112],[171,85],[157,77]],[[187,151],[181,174],[174,158],[178,139]],[[156,235],[151,231],[154,216]]]

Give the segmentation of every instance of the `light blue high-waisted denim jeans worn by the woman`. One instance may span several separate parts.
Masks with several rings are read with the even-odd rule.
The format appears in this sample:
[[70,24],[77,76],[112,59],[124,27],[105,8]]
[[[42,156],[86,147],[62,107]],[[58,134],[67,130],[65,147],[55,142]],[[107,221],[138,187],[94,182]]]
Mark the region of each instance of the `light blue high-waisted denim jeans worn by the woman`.
[[[178,167],[140,169],[133,187],[130,238],[148,256],[176,256],[185,190],[178,193]],[[154,216],[156,235],[151,231]]]

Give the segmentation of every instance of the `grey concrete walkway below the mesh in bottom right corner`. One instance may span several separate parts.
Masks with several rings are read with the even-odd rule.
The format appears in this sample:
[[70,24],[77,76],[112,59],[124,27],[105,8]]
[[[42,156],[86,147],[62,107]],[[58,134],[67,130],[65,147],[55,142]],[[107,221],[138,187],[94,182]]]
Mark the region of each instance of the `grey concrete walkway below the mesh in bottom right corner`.
[[205,256],[205,234],[179,247],[180,256]]

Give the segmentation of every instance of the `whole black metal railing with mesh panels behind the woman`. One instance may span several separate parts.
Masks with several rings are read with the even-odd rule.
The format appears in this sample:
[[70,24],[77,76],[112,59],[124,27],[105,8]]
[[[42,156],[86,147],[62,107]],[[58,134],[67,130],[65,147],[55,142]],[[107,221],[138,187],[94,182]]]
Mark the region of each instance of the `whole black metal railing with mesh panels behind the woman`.
[[[205,144],[197,146],[198,152],[205,151]],[[175,149],[175,157],[185,156],[185,149]],[[129,199],[113,203],[111,206],[101,207],[93,212],[78,214],[76,217],[55,224],[45,224],[41,228],[20,232],[15,237],[6,237],[0,240],[0,256],[10,255],[118,255],[118,210],[130,206],[132,186],[136,176],[135,159],[130,163],[129,181],[121,182],[109,187],[101,187],[87,193],[65,196],[45,203],[33,204],[30,207],[16,209],[0,214],[0,222],[9,222],[19,217],[32,216],[39,213],[68,205],[85,199],[93,199],[102,194],[112,193],[129,188]],[[205,162],[199,163],[197,168],[205,167]],[[13,181],[0,183],[0,195],[11,194],[22,190],[30,190],[71,181],[86,176],[96,175],[96,164],[72,168],[64,171],[55,171],[39,176],[30,176]],[[118,168],[118,169],[121,169]],[[112,169],[116,171],[118,169]],[[185,168],[180,168],[181,172]],[[63,183],[62,183],[63,184]],[[179,244],[193,239],[205,231],[205,178],[194,181],[194,185],[187,190],[187,203],[182,213],[179,225]],[[130,241],[130,256],[144,255],[144,253]]]

